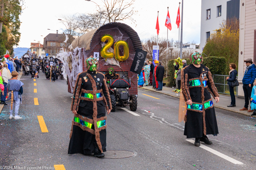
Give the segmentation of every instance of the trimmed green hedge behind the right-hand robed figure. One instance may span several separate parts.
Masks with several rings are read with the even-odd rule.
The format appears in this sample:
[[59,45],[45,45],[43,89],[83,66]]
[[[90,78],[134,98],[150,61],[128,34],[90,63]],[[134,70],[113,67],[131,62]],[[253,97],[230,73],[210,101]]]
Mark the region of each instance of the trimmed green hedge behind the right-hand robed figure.
[[[184,59],[187,61],[187,64],[191,64],[190,60],[188,58]],[[168,74],[172,75],[169,76],[169,83],[167,86],[169,87],[175,87],[175,79],[174,79],[174,60],[170,60],[168,62]],[[219,74],[219,75],[225,75],[227,70],[226,65],[226,59],[224,57],[204,57],[204,61],[202,62],[206,67],[209,68],[211,71],[211,74]]]

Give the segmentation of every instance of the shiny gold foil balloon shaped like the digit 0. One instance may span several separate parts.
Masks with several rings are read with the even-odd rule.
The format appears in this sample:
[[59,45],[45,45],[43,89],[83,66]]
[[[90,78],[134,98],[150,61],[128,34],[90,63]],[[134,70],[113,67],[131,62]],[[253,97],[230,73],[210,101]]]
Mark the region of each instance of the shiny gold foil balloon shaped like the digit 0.
[[[120,56],[119,54],[119,46],[122,45],[124,47],[124,55]],[[115,59],[118,61],[125,61],[129,57],[129,46],[126,41],[120,40],[117,41],[114,45],[114,54],[115,54]]]

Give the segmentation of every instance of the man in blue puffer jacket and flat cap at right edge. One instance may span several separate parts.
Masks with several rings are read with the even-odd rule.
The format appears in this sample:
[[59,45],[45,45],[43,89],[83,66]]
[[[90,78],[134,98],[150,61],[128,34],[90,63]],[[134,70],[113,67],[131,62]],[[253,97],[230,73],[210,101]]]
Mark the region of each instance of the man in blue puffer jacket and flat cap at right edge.
[[[253,87],[253,82],[256,78],[256,66],[253,64],[252,59],[248,58],[244,60],[246,63],[246,71],[244,72],[243,76],[243,92],[244,92],[244,107],[240,109],[241,111],[248,110],[248,105],[249,105],[249,100],[251,97],[252,93],[252,87]],[[251,101],[250,101],[251,102]],[[253,112],[253,110],[248,110],[247,112]]]

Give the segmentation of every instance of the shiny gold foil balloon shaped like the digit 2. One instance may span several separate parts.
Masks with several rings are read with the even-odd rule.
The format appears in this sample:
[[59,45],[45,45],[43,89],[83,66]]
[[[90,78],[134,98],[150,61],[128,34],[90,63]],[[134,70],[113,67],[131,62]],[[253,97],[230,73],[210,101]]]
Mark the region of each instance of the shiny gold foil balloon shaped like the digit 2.
[[109,34],[105,34],[101,37],[101,41],[102,42],[105,42],[106,40],[108,40],[108,43],[106,43],[100,50],[100,55],[101,57],[103,57],[105,59],[105,61],[108,59],[108,58],[113,58],[114,57],[114,54],[113,53],[109,53],[107,52],[107,49],[109,49],[113,42],[114,42],[114,38],[109,35]]

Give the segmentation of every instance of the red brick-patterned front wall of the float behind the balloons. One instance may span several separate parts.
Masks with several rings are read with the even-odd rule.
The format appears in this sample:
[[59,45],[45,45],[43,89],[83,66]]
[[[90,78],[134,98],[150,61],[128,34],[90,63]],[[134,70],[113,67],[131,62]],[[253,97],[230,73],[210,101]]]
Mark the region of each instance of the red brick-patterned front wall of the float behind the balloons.
[[[120,24],[121,24],[121,27],[117,26],[117,25],[120,25]],[[128,27],[128,28],[123,29],[122,28],[123,26],[125,26],[126,28]],[[91,39],[90,50],[85,50],[84,48],[81,50],[83,61],[84,61],[85,58],[93,56],[94,52],[99,52],[100,53],[100,50],[102,48],[102,46],[101,46],[101,37],[102,37],[102,35],[110,34],[113,37],[120,35],[120,32],[117,29],[113,29],[113,28],[116,28],[116,27],[123,34],[123,37],[126,37],[124,41],[126,41],[129,44],[129,53],[130,53],[129,58],[126,61],[119,62],[120,67],[121,67],[121,69],[120,69],[118,66],[115,66],[115,65],[109,65],[109,64],[106,65],[105,60],[102,57],[100,57],[100,59],[99,59],[99,68],[98,68],[97,71],[100,71],[102,73],[107,73],[108,68],[112,67],[112,68],[114,68],[115,72],[119,72],[119,73],[120,72],[125,72],[125,73],[128,72],[128,77],[132,81],[131,82],[131,88],[129,89],[129,94],[137,95],[138,94],[137,74],[131,72],[130,68],[131,68],[131,65],[132,65],[132,62],[133,62],[133,57],[134,57],[134,54],[135,54],[134,46],[135,45],[136,45],[136,47],[141,46],[141,41],[140,41],[140,38],[138,37],[137,33],[131,27],[129,27],[128,25],[123,24],[123,23],[116,23],[116,24],[115,23],[109,23],[109,24],[102,25],[95,32],[94,36]],[[131,35],[132,35],[132,38],[131,38]],[[127,39],[127,37],[129,37],[129,38]],[[113,49],[114,49],[114,43],[112,45]],[[134,44],[134,43],[136,43],[136,44]],[[142,47],[139,47],[139,48],[142,49]],[[85,53],[84,53],[84,50],[85,50]],[[85,56],[84,56],[84,54],[85,54]],[[82,64],[83,64],[83,70],[85,71],[86,67],[84,65],[84,62]],[[69,83],[68,83],[68,92],[71,93]]]

